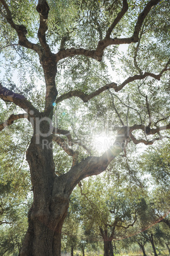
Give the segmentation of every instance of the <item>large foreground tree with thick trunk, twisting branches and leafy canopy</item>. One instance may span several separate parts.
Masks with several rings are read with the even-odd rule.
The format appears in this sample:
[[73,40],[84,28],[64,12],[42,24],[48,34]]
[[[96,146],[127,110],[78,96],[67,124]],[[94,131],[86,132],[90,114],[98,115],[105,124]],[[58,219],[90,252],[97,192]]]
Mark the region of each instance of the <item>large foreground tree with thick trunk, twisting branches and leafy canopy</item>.
[[[23,122],[25,131],[32,129],[27,162],[34,201],[20,255],[60,255],[62,225],[75,185],[105,171],[117,155],[123,150],[126,153],[129,141],[152,145],[168,136],[169,55],[164,50],[169,45],[168,2],[0,3],[1,62],[6,61],[1,108],[15,106],[0,129],[23,118],[29,121],[28,126]],[[129,55],[126,59],[121,55],[124,78],[115,81],[105,76],[106,59],[112,68],[120,69],[114,59],[120,44],[129,45]],[[12,83],[15,75],[19,86]],[[87,113],[86,127],[82,113]],[[89,147],[105,127],[106,117],[115,140],[105,153],[90,154]],[[16,129],[14,132],[13,141],[18,136]],[[53,157],[53,143],[61,147],[62,155],[68,155],[62,167],[61,151],[55,152],[55,146]]]

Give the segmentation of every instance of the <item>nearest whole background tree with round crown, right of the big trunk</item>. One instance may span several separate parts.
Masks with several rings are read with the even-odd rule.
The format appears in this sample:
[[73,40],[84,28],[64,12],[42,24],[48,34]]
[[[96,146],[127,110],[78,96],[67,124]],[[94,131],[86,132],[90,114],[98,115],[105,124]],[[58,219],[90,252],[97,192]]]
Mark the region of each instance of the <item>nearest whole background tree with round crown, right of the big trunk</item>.
[[132,236],[154,222],[154,211],[144,199],[147,199],[147,190],[144,186],[133,187],[131,179],[126,178],[124,183],[125,176],[122,168],[119,180],[113,181],[112,176],[107,180],[103,176],[79,184],[81,195],[77,201],[81,208],[77,215],[81,216],[86,229],[98,229],[105,255],[114,255],[113,240]]

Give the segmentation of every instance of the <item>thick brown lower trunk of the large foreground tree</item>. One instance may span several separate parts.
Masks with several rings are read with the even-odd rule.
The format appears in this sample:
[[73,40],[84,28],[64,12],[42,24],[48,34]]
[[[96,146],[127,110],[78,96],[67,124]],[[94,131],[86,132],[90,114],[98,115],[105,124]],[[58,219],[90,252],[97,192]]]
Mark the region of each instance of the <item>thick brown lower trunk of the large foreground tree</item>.
[[60,256],[62,225],[69,207],[65,182],[55,175],[51,136],[44,139],[46,145],[42,138],[37,143],[34,135],[27,150],[34,202],[29,210],[29,228],[20,251],[24,256]]

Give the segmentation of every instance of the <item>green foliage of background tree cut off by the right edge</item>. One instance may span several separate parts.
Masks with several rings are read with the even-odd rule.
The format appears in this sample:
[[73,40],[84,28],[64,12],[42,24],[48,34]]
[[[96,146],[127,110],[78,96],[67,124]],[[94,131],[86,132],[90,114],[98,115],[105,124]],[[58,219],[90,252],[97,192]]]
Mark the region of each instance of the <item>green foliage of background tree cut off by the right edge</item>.
[[150,203],[155,217],[169,226],[169,141],[155,146],[153,150],[141,155],[139,165],[142,173],[148,175],[150,186]]

